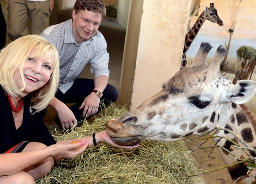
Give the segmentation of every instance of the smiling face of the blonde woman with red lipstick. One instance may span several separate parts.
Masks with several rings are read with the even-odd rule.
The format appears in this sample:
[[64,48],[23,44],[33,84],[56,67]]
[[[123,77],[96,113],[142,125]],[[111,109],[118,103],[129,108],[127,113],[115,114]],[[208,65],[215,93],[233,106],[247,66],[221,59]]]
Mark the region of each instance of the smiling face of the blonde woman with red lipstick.
[[[32,50],[30,56],[32,56],[34,52],[35,49]],[[26,88],[23,92],[27,95],[28,93],[43,87],[43,85],[48,82],[53,73],[53,58],[34,59],[29,57],[27,61],[25,61],[23,73],[24,81],[26,83]],[[19,71],[16,70],[14,75],[18,87],[23,87]]]

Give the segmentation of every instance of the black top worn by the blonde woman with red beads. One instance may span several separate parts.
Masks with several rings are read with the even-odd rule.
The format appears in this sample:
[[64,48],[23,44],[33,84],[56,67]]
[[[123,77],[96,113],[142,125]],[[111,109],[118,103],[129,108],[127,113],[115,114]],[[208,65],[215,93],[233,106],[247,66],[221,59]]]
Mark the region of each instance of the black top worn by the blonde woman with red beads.
[[22,141],[39,142],[47,146],[57,142],[45,126],[40,113],[30,113],[30,99],[27,97],[24,97],[23,108],[22,124],[16,129],[10,103],[0,85],[0,153],[5,153]]

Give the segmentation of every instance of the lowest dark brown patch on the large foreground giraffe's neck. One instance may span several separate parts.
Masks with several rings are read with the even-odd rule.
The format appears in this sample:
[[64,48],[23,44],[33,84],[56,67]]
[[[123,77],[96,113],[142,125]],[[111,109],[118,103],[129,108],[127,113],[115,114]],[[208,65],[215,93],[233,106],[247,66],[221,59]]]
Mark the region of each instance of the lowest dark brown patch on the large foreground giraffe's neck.
[[247,165],[246,163],[236,164],[228,167],[229,174],[233,180],[238,179],[241,176],[247,175]]

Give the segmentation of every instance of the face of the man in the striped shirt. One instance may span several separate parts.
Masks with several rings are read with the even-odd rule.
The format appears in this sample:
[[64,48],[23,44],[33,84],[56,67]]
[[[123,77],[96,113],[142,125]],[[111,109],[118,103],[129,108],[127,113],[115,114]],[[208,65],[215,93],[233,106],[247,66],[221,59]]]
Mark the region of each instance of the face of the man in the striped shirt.
[[101,24],[102,15],[88,10],[79,10],[72,12],[73,32],[75,41],[80,44],[84,40],[88,40],[95,35]]

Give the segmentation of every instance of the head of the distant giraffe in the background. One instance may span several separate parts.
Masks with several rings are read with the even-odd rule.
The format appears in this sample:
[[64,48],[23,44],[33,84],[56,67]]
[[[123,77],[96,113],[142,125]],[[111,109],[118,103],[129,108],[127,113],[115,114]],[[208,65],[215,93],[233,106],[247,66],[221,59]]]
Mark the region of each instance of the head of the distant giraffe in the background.
[[223,21],[219,18],[217,9],[214,8],[214,3],[210,3],[210,7],[206,7],[202,18],[205,18],[213,23],[219,24],[219,26],[223,26]]

